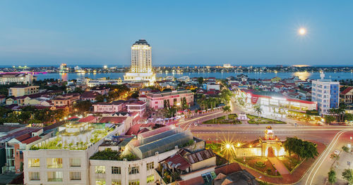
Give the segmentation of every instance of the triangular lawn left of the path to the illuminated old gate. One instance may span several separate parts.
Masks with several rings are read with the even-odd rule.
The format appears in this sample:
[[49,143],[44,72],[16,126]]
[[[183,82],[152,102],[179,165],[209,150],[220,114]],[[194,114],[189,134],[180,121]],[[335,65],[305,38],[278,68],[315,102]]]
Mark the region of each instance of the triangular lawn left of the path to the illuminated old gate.
[[[246,158],[244,163],[244,158],[236,158],[238,162],[249,165],[255,170],[263,172],[264,174],[269,174],[273,176],[280,176],[280,173],[276,172],[275,167],[271,164],[268,158]],[[257,162],[257,164],[256,164]]]

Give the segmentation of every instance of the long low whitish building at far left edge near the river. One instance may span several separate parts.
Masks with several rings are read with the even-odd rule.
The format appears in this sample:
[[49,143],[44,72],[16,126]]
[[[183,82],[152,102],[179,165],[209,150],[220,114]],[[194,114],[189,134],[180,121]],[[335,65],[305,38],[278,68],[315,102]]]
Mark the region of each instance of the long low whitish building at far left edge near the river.
[[32,73],[11,72],[0,74],[0,84],[32,84],[35,77]]

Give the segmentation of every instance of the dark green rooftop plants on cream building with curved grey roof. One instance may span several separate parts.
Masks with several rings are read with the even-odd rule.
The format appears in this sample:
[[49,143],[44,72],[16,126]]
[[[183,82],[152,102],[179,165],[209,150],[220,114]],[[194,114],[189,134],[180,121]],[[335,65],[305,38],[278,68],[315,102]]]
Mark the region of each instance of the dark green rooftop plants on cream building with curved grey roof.
[[124,160],[124,158],[128,161],[138,160],[138,158],[132,153],[121,155],[119,151],[112,151],[111,148],[106,148],[104,151],[98,151],[95,155],[90,157],[92,160]]

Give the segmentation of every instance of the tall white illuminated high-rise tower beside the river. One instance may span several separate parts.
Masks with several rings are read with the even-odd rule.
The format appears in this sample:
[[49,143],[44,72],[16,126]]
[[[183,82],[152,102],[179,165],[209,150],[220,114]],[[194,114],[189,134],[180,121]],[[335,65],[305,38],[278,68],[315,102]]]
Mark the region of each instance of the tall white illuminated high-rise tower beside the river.
[[152,47],[145,39],[139,39],[131,46],[131,68],[124,80],[132,82],[155,82],[152,72]]

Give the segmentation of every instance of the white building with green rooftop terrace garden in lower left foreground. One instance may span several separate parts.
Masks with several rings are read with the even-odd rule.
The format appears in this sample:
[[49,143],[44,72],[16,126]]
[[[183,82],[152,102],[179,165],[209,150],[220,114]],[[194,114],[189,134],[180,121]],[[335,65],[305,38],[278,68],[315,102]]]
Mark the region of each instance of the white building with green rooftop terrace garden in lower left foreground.
[[23,151],[25,184],[90,184],[90,156],[105,138],[124,134],[124,124],[110,132],[103,128],[95,143],[97,129],[88,123],[66,124],[59,130],[65,131]]

